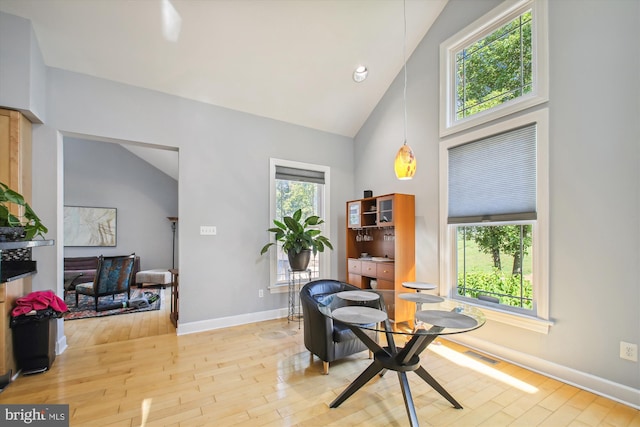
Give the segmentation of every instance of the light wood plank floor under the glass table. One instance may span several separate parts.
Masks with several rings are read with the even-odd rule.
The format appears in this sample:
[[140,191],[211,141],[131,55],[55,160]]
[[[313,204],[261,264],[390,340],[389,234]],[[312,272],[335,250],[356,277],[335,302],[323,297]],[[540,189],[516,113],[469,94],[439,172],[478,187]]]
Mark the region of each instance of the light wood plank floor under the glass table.
[[[69,348],[52,369],[20,376],[0,403],[69,404],[72,426],[409,425],[393,372],[330,409],[369,364],[367,352],[321,375],[295,322],[178,337],[165,309],[67,321],[65,331]],[[409,373],[422,426],[640,426],[630,407],[439,342],[423,365],[464,409]]]

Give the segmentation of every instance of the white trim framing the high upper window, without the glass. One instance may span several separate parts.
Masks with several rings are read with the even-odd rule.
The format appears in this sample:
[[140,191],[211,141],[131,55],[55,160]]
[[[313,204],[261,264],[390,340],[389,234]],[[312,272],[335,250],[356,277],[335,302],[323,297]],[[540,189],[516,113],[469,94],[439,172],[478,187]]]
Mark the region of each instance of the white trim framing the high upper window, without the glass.
[[[440,136],[447,136],[505,117],[549,100],[549,49],[547,0],[505,1],[440,44]],[[463,119],[455,114],[455,55],[462,47],[531,9],[532,90],[530,93]]]

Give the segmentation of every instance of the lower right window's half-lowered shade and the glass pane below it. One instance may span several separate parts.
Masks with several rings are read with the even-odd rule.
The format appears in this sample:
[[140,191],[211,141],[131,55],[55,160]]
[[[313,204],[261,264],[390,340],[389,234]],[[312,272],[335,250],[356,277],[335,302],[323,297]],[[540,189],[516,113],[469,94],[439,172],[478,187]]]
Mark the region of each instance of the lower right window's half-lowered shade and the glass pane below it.
[[534,309],[536,156],[536,124],[448,149],[456,297],[527,314]]

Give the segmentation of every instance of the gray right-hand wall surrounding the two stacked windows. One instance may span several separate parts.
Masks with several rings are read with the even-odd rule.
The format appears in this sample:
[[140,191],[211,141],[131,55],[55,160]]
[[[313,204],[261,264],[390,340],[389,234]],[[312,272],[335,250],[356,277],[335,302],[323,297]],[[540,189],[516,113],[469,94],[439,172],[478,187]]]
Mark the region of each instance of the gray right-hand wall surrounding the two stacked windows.
[[[450,0],[408,63],[413,181],[394,181],[391,167],[402,143],[402,75],[355,138],[357,191],[416,194],[418,280],[439,280],[439,45],[499,3]],[[619,358],[620,341],[640,343],[640,2],[549,3],[555,325],[544,335],[490,322],[474,334],[491,348],[628,386],[640,405],[638,364]]]

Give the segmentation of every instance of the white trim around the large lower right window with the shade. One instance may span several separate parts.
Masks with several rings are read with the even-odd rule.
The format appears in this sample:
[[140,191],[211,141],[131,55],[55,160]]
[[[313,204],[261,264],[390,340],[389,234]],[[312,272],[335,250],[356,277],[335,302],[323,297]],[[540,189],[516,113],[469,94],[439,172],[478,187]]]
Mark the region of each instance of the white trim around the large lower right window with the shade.
[[[508,310],[487,307],[482,304],[482,310],[488,319],[509,325],[522,327],[540,333],[548,333],[553,322],[549,319],[549,112],[547,108],[533,111],[522,116],[505,120],[492,126],[477,129],[442,140],[439,147],[440,169],[440,295],[454,298],[456,271],[456,236],[453,227],[448,224],[448,150],[451,147],[466,144],[491,135],[502,133],[510,129],[536,124],[536,211],[537,219],[533,223],[532,248],[533,283],[535,316],[527,316]],[[498,223],[496,223],[498,224]]]

